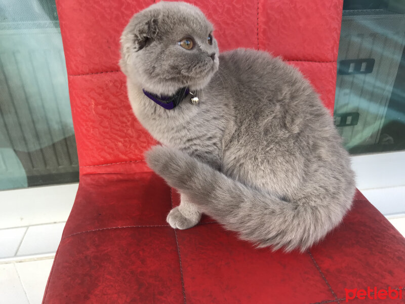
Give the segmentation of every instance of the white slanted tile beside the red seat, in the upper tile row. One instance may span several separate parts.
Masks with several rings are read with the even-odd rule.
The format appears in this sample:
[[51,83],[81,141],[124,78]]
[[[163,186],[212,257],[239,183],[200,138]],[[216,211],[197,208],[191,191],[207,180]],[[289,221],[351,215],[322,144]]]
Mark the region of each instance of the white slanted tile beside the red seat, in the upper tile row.
[[30,226],[17,252],[18,256],[56,252],[65,223]]

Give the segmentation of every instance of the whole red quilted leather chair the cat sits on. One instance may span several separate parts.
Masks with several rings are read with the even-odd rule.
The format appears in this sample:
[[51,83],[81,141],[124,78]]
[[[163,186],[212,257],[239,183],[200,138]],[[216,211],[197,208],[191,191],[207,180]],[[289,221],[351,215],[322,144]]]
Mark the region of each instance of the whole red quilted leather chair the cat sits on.
[[[221,51],[282,56],[333,111],[341,0],[190,2],[215,24]],[[166,223],[179,196],[144,162],[155,141],[117,65],[121,31],[152,3],[57,1],[80,183],[43,303],[320,304],[345,301],[345,288],[402,288],[405,239],[359,192],[343,223],[304,254],[254,249],[207,217],[185,231]]]

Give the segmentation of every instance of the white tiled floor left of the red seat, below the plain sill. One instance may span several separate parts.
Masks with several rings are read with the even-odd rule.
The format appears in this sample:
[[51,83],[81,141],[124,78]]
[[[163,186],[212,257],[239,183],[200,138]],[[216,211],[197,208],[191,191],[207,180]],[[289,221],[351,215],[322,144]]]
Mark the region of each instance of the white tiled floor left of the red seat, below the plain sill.
[[64,226],[61,222],[0,230],[0,304],[42,302]]

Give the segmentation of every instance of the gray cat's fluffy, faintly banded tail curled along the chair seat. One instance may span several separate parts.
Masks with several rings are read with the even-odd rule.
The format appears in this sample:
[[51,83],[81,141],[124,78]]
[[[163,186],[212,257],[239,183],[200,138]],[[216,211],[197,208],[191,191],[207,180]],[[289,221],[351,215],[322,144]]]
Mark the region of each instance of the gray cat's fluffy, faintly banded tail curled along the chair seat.
[[200,206],[200,210],[258,247],[306,250],[322,239],[350,207],[298,204],[252,189],[180,150],[155,146],[150,168]]

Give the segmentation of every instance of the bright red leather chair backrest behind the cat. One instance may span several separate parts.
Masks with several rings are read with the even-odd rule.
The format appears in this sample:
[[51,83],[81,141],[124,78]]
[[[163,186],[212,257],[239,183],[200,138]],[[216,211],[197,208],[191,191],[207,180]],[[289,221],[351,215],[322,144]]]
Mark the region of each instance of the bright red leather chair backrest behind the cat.
[[[154,143],[134,117],[119,37],[153,0],[58,0],[80,173],[143,159]],[[297,66],[333,111],[342,0],[187,0],[215,26],[220,51],[265,50]],[[93,169],[92,169],[93,170]],[[91,170],[91,172],[93,172]]]

